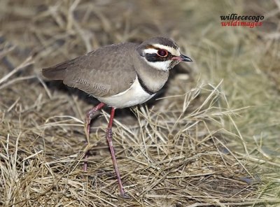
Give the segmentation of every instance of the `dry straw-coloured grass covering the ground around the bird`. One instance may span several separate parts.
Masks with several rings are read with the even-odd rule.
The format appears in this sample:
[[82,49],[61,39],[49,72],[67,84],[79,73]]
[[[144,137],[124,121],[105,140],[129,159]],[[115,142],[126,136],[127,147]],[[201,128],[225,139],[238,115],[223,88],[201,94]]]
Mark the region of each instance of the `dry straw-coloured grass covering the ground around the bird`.
[[[167,6],[168,4],[168,6]],[[203,5],[203,6],[202,6]],[[221,27],[228,13],[263,27]],[[279,206],[280,1],[0,3],[1,206]],[[121,199],[96,101],[41,68],[101,45],[171,36],[195,60],[149,106],[117,110]]]

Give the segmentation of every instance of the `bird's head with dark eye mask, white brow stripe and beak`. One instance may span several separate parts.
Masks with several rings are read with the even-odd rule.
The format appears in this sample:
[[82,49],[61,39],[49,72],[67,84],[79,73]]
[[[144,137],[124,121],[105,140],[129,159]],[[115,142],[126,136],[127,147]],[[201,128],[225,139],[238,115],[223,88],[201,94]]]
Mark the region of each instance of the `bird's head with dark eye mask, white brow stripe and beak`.
[[169,71],[179,62],[192,62],[182,55],[179,46],[169,38],[155,37],[141,43],[137,52],[145,62],[160,71]]

